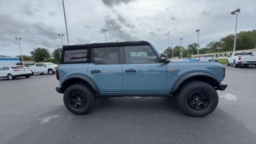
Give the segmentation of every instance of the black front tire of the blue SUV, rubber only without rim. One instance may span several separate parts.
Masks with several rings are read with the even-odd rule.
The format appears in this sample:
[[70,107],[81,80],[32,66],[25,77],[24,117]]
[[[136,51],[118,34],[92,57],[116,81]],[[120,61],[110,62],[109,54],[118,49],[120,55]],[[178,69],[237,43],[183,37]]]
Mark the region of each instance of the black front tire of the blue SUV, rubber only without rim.
[[[202,110],[194,110],[188,105],[188,96],[197,90],[207,92],[210,97],[210,103]],[[176,102],[178,107],[188,116],[206,116],[212,113],[218,105],[218,93],[210,84],[198,80],[188,81],[178,89],[176,94]]]

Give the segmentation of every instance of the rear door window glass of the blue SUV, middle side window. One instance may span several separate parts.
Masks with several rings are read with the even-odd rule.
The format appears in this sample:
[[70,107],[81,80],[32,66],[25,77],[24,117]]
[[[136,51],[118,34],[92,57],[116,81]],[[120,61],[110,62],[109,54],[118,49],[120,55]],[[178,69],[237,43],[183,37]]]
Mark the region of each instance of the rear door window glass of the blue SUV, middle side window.
[[93,48],[94,64],[119,64],[119,48]]

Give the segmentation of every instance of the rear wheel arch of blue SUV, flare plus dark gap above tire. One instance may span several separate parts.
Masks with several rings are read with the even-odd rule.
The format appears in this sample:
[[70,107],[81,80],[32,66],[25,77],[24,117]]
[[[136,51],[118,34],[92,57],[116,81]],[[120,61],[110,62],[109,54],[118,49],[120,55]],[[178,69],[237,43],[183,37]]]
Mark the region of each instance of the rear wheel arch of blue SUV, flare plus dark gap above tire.
[[88,76],[84,76],[84,75],[69,76],[68,78],[63,80],[62,84],[60,84],[60,85],[64,87],[63,90],[66,90],[66,88],[68,88],[72,84],[81,83],[81,82],[90,86],[96,93],[100,92],[100,90],[98,89],[98,86],[95,84],[95,82]]

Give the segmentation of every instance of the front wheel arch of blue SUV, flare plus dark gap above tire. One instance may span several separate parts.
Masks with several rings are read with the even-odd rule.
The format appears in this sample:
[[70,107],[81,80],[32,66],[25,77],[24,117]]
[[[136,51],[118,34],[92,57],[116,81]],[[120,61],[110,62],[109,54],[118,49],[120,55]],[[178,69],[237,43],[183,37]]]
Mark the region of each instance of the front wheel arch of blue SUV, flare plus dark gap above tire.
[[172,86],[172,90],[170,93],[175,93],[176,90],[178,90],[178,88],[182,86],[182,84],[190,80],[200,80],[212,85],[215,88],[218,88],[219,86],[219,82],[216,78],[214,78],[214,76],[204,72],[192,72],[184,76],[181,76],[178,80],[176,80],[176,82]]

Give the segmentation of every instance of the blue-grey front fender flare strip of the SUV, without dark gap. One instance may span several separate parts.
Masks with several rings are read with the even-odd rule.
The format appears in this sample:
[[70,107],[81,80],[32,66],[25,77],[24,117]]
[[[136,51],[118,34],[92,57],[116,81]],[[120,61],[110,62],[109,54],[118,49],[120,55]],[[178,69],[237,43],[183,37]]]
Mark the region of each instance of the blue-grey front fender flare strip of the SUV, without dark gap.
[[188,78],[192,78],[193,76],[208,76],[210,78],[213,78],[214,80],[216,80],[216,82],[218,82],[218,80],[212,76],[211,74],[205,73],[205,72],[192,72],[192,73],[188,73],[185,74],[184,76],[180,77],[172,86],[172,90],[171,93],[176,92],[176,90],[179,88],[180,84],[182,84],[182,82],[184,82],[185,80],[187,80]]

